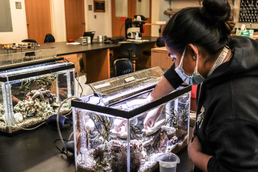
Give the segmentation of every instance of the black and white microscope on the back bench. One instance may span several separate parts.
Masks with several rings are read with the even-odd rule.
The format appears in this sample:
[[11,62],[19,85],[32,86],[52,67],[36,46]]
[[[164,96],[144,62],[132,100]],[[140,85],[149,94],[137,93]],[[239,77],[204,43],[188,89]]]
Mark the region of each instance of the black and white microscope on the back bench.
[[141,40],[144,33],[143,24],[147,19],[143,15],[135,15],[134,18],[134,21],[131,18],[125,19],[125,36],[126,39]]

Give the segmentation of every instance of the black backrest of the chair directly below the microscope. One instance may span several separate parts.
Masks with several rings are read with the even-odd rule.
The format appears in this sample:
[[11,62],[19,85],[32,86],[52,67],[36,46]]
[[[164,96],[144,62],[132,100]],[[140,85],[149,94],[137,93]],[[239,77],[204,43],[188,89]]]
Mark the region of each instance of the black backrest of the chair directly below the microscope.
[[130,52],[131,56],[139,54],[139,45],[137,43],[123,43],[120,45],[119,49],[120,54],[126,55],[130,57]]

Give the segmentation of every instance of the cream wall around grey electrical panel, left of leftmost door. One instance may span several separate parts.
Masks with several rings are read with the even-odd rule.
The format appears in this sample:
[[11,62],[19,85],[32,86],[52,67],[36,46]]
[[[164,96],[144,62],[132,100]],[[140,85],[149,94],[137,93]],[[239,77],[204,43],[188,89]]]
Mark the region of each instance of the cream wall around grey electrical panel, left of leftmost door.
[[0,44],[19,43],[28,38],[24,0],[19,0],[21,9],[16,9],[15,1],[10,0],[13,31],[0,32]]

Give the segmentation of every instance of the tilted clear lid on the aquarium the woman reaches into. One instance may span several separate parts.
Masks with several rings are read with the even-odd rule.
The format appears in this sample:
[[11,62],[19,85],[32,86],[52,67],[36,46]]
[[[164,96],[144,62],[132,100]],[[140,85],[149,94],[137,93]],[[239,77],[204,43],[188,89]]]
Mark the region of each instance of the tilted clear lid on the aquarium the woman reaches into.
[[90,85],[107,106],[136,93],[154,88],[163,74],[159,67],[154,67]]

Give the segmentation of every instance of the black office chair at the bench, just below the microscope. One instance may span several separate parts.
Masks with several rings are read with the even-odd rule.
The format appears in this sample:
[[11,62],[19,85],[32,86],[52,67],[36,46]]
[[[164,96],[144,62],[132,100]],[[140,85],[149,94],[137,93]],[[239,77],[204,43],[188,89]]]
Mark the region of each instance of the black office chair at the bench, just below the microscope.
[[[132,57],[133,55],[139,54],[139,45],[136,43],[124,43],[120,45],[120,54],[126,55],[130,61],[138,60],[137,57]],[[125,59],[127,57],[118,57],[118,59]]]

